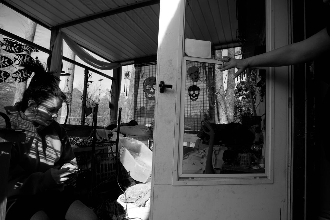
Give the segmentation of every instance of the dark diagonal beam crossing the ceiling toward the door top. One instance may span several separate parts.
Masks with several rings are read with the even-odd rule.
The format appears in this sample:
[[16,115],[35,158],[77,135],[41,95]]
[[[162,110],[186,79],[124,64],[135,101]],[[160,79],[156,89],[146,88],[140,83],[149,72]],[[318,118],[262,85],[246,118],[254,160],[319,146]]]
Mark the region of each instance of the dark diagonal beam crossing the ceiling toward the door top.
[[86,21],[97,19],[97,18],[116,15],[118,13],[123,13],[123,12],[131,11],[133,9],[142,8],[142,7],[145,7],[145,6],[155,5],[155,4],[159,4],[159,3],[160,3],[160,0],[144,0],[144,1],[140,1],[140,2],[135,2],[135,3],[132,3],[132,4],[116,7],[116,8],[109,9],[109,10],[106,10],[106,11],[102,11],[102,12],[99,12],[99,13],[95,13],[95,14],[84,16],[84,17],[80,17],[80,18],[77,18],[77,19],[72,19],[70,21],[58,24],[55,27],[56,28],[69,27],[69,26],[72,26],[72,25],[80,24],[80,23],[83,23],[83,22],[86,22]]

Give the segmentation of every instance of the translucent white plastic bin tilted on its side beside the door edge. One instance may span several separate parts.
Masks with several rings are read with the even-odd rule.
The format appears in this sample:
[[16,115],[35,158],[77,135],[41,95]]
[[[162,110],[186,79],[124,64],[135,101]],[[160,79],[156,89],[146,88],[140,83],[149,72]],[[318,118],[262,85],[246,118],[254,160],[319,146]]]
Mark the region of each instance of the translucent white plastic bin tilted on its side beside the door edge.
[[129,175],[139,182],[151,180],[152,151],[134,138],[119,138],[119,159]]

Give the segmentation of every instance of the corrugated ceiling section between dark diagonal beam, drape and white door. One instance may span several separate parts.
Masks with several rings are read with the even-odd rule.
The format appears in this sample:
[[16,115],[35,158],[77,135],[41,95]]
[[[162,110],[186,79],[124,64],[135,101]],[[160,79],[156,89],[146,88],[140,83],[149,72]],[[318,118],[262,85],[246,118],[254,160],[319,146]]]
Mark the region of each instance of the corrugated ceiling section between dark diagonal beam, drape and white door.
[[158,22],[159,5],[153,5],[62,30],[78,44],[115,62],[156,54]]

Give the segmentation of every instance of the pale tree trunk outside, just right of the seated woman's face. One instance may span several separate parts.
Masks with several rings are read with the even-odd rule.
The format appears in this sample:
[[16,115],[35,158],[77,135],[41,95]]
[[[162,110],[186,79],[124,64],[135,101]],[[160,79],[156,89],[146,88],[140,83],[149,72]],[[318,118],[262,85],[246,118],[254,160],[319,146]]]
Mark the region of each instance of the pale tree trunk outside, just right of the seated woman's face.
[[[76,54],[74,54],[74,52],[68,48],[68,58],[69,59],[72,59],[72,60],[76,60]],[[73,92],[73,79],[75,77],[75,65],[73,63],[70,63],[68,62],[67,65],[67,71],[65,71],[66,73],[69,73],[70,76],[66,76],[65,77],[65,87],[63,89],[63,92],[69,92],[71,93],[72,95],[72,92]],[[71,102],[72,103],[72,102]],[[70,124],[70,117],[71,117],[71,103],[69,105],[69,113],[68,113],[68,120],[67,120],[67,124]],[[65,122],[65,117],[66,117],[66,114],[67,114],[67,110],[64,110],[62,108],[62,111],[61,111],[61,120],[60,120],[60,123],[61,124],[64,124]]]

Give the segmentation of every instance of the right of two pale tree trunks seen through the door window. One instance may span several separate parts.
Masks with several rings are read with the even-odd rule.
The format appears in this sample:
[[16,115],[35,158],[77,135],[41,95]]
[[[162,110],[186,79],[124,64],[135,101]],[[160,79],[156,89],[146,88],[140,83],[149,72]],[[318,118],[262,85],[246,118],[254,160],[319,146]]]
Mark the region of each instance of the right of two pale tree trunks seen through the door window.
[[[228,49],[228,56],[234,57],[235,56],[235,49],[229,48]],[[227,89],[226,89],[226,106],[227,106],[227,118],[228,123],[234,121],[234,93],[235,93],[235,79],[233,76],[235,74],[235,68],[228,70],[227,75]]]

